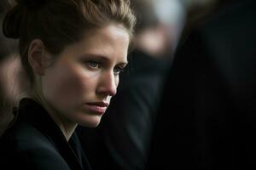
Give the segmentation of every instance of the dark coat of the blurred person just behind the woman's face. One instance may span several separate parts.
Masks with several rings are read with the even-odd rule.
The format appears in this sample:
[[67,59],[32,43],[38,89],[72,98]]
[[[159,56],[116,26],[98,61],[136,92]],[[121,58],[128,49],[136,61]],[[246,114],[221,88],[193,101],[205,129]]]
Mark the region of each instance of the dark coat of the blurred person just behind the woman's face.
[[[145,169],[155,111],[171,63],[138,50],[128,60],[128,68],[120,75],[118,93],[102,116],[100,126],[81,131],[94,169]],[[94,130],[96,133],[90,136],[95,139],[86,139],[86,134]],[[86,144],[88,141],[90,144]],[[96,147],[92,148],[91,143]]]

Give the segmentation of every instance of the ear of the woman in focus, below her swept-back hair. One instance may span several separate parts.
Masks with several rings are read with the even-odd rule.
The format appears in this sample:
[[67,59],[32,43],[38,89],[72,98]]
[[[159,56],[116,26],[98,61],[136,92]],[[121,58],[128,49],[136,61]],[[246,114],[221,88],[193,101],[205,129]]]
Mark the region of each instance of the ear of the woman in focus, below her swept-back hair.
[[34,73],[39,76],[44,75],[45,54],[44,42],[40,39],[32,40],[28,48],[28,62]]

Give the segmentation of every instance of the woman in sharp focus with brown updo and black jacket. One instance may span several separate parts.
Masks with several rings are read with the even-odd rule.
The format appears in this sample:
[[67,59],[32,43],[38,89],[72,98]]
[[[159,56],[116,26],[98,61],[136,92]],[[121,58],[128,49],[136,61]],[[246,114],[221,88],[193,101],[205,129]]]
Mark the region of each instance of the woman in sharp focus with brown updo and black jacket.
[[1,166],[90,169],[74,131],[96,127],[116,94],[134,24],[128,0],[17,1],[3,33],[19,38],[32,98],[3,134]]

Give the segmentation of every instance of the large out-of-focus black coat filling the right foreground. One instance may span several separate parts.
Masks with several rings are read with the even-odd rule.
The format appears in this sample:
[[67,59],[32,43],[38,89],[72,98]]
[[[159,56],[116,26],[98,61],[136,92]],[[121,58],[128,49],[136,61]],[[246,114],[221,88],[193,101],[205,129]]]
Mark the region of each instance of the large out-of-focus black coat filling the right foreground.
[[255,8],[230,3],[181,43],[148,169],[256,168]]

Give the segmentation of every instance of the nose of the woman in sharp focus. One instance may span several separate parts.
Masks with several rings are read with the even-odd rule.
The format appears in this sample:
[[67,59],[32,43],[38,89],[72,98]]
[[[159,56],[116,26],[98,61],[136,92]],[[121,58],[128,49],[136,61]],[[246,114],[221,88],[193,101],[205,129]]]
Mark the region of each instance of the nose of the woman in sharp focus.
[[106,96],[114,96],[117,92],[118,79],[113,75],[112,71],[102,74],[98,88],[96,89],[97,94]]

